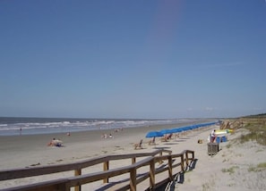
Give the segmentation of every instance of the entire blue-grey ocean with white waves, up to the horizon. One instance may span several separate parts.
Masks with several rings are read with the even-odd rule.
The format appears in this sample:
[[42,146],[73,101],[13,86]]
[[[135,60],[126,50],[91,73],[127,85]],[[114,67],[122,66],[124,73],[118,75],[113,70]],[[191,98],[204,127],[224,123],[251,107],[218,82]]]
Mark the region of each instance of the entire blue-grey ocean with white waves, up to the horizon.
[[193,124],[195,121],[199,121],[199,119],[132,120],[0,117],[0,136],[67,133],[95,129],[125,129],[186,122]]

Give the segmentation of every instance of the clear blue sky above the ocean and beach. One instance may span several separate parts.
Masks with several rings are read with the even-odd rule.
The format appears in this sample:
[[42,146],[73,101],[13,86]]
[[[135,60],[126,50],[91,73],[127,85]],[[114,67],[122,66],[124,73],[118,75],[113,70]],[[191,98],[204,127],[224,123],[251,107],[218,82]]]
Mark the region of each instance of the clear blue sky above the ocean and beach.
[[266,112],[264,0],[2,0],[0,116]]

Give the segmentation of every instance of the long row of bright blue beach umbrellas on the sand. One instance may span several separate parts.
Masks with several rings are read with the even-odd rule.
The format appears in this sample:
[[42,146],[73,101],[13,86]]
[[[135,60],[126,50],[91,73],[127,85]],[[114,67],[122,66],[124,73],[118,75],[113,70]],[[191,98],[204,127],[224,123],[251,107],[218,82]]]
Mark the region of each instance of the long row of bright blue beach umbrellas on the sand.
[[150,131],[147,133],[146,137],[164,137],[166,134],[172,134],[172,133],[181,133],[187,130],[193,130],[198,129],[202,127],[207,127],[210,125],[214,125],[217,122],[208,122],[208,123],[202,123],[202,124],[195,124],[191,126],[181,127],[181,128],[174,128],[174,129],[162,129],[160,131]]

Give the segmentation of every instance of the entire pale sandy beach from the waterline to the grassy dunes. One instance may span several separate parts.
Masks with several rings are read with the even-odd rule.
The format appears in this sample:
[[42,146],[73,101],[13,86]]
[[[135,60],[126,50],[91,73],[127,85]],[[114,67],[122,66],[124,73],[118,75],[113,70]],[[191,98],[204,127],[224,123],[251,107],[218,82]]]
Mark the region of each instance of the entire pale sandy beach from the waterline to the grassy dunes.
[[[180,124],[178,125],[180,126]],[[148,131],[174,127],[176,125],[131,128],[118,132],[111,129],[108,131],[86,131],[75,132],[71,136],[56,134],[1,137],[0,169],[77,162],[106,154],[152,152],[157,148],[172,150],[174,154],[190,149],[195,151],[197,159],[195,169],[184,173],[184,183],[176,184],[172,190],[265,190],[266,184],[263,179],[266,178],[266,171],[248,171],[258,163],[265,162],[265,146],[253,142],[244,145],[235,143],[233,139],[245,133],[242,129],[237,130],[235,134],[228,135],[228,141],[219,145],[221,150],[214,156],[207,154],[207,137],[211,129],[217,129],[217,127],[192,131],[167,143],[160,142],[157,138],[157,145],[148,145],[150,138],[145,138]],[[107,133],[107,135],[111,133],[114,138],[101,138],[103,133]],[[63,140],[64,147],[47,146],[47,142],[53,137]],[[143,139],[144,148],[134,150],[133,145],[141,139]],[[198,139],[202,139],[203,143],[198,144]],[[95,167],[95,170],[99,170],[99,167]],[[72,175],[69,173],[56,174],[55,177],[49,176],[49,179]],[[48,178],[42,176],[39,179]],[[35,180],[30,178],[2,181],[0,189],[32,183]],[[99,187],[97,184],[99,183],[90,184],[88,190],[95,190]]]

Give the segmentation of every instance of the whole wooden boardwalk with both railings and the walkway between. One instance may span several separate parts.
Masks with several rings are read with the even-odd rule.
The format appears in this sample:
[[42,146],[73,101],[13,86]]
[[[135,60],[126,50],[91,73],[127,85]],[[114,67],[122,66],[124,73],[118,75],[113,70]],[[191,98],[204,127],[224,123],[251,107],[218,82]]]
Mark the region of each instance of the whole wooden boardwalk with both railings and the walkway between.
[[[119,166],[119,160],[127,160],[128,165]],[[184,150],[181,154],[172,154],[168,150],[156,150],[152,153],[107,155],[83,162],[32,167],[30,169],[2,170],[0,181],[27,179],[35,176],[47,176],[53,173],[73,171],[71,177],[51,179],[4,190],[86,190],[94,183],[96,190],[156,190],[167,185],[176,174],[183,173],[194,161],[194,152]],[[102,170],[90,168],[102,166]],[[138,189],[139,188],[139,189]]]

